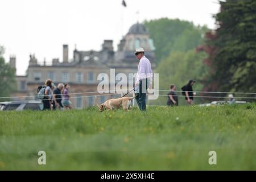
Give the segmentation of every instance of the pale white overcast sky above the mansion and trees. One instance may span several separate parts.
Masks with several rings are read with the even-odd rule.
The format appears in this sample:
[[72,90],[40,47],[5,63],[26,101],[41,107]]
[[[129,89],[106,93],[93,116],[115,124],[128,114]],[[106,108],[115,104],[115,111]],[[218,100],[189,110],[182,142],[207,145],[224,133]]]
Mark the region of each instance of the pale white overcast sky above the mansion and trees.
[[[38,61],[63,60],[62,46],[69,45],[69,59],[78,50],[100,50],[104,39],[114,48],[129,27],[139,20],[179,18],[214,28],[217,0],[0,0],[0,45],[5,59],[16,55],[17,75],[24,75],[30,53]],[[139,14],[137,14],[139,11]]]

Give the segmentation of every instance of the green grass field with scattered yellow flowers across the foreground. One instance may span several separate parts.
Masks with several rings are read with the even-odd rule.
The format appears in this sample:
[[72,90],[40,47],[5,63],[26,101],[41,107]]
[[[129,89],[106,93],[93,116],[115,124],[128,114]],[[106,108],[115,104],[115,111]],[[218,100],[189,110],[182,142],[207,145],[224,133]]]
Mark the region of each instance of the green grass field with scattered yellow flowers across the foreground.
[[256,170],[256,107],[4,111],[0,169]]

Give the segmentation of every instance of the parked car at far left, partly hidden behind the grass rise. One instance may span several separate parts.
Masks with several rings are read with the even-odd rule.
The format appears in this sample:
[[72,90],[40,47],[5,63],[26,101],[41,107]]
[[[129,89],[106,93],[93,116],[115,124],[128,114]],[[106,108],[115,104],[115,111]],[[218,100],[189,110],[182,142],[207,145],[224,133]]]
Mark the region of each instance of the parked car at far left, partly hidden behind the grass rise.
[[10,101],[0,102],[0,111],[3,110],[42,110],[42,101]]

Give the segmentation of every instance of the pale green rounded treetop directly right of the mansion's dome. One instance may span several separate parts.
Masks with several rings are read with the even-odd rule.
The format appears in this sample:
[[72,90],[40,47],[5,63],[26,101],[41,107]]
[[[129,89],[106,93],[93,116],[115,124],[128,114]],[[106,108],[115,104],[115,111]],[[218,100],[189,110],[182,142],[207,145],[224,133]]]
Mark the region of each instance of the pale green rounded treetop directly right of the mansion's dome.
[[207,27],[195,26],[193,23],[162,18],[144,22],[154,40],[156,47],[156,64],[166,59],[174,51],[189,51],[204,42],[202,35],[207,32]]

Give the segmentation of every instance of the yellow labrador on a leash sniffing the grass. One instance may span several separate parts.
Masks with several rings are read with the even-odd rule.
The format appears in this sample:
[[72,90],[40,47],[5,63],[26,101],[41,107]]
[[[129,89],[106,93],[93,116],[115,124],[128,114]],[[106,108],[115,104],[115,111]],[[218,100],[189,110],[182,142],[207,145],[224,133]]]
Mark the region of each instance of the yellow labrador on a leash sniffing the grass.
[[105,109],[119,109],[123,107],[123,110],[130,109],[131,100],[135,97],[121,97],[121,98],[112,98],[100,105],[100,111],[104,111]]

